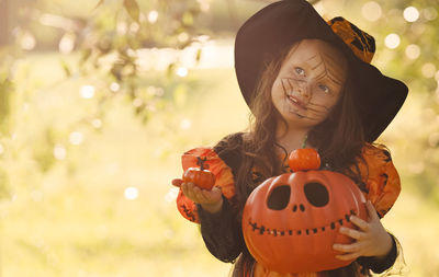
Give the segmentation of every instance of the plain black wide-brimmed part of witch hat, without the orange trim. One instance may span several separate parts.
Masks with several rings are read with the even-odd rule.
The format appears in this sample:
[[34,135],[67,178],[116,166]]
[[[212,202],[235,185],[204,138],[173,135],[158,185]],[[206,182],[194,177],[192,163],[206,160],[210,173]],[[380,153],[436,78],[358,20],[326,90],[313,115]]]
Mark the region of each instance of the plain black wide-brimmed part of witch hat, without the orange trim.
[[323,39],[345,54],[365,140],[374,141],[399,111],[408,89],[403,82],[382,74],[374,66],[359,59],[305,0],[269,4],[239,28],[235,41],[235,71],[247,104],[250,106],[255,97],[266,56],[305,38]]

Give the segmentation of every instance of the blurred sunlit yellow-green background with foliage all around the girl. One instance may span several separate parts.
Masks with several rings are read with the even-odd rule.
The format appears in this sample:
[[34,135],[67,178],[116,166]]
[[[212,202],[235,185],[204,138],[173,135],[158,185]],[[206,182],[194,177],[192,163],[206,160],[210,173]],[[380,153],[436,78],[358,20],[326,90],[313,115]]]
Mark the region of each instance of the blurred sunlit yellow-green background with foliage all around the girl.
[[[269,2],[0,0],[0,276],[226,276],[170,180],[246,128],[233,39]],[[384,224],[408,276],[439,276],[439,1],[312,2],[410,89],[379,139],[403,183]]]

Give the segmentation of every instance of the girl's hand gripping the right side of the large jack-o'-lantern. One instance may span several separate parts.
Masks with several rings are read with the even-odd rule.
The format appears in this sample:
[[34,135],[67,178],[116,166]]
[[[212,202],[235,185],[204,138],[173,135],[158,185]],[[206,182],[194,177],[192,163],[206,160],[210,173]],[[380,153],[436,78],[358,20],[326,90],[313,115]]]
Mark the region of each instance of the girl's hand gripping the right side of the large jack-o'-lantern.
[[337,255],[339,259],[356,259],[360,256],[374,256],[384,258],[392,250],[392,238],[385,231],[371,201],[365,204],[369,213],[369,222],[351,216],[350,221],[359,230],[341,227],[340,233],[356,240],[352,244],[334,244],[334,250],[344,252]]

